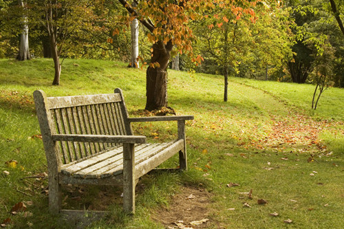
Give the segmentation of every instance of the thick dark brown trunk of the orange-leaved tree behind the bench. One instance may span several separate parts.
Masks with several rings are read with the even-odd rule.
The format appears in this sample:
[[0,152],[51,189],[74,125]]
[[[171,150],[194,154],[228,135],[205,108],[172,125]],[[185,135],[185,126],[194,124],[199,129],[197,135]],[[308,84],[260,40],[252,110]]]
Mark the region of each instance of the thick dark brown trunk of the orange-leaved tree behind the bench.
[[[147,68],[146,107],[148,111],[167,107],[167,66],[169,65],[172,42],[166,45],[162,41],[153,44],[153,56]],[[154,65],[152,67],[151,65]],[[157,66],[157,63],[159,66]]]

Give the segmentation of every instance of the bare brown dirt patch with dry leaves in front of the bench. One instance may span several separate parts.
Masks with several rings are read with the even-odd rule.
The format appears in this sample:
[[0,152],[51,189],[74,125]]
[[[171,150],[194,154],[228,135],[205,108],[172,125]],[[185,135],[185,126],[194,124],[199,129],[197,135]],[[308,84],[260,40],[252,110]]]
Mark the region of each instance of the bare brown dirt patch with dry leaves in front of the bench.
[[[151,218],[166,228],[208,228],[214,223],[209,217],[211,196],[202,188],[182,187],[180,193],[173,196],[169,206],[156,210]],[[193,225],[193,221],[200,225]]]

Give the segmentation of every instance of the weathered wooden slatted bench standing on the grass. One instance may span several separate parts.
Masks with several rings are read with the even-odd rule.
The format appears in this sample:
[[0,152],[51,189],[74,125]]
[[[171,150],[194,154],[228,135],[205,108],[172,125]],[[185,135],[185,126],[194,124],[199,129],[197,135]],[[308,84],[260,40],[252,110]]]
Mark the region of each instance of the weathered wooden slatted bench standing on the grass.
[[[121,89],[114,94],[48,97],[34,91],[47,157],[49,210],[61,212],[61,184],[123,186],[123,208],[135,212],[138,178],[179,153],[186,169],[185,120],[193,116],[129,118]],[[146,143],[131,122],[178,121],[178,138]],[[64,210],[65,211],[65,210]]]

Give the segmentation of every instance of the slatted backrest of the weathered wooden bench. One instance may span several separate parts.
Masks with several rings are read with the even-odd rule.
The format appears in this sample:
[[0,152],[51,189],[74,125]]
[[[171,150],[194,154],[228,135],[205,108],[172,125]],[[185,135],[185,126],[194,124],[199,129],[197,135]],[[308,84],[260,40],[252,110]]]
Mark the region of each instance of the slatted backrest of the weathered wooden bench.
[[[45,148],[52,147],[52,134],[132,135],[120,89],[116,89],[115,94],[48,98],[43,91],[34,91],[34,100]],[[116,147],[110,143],[53,144],[54,150],[50,151],[56,154],[58,164],[82,160]]]

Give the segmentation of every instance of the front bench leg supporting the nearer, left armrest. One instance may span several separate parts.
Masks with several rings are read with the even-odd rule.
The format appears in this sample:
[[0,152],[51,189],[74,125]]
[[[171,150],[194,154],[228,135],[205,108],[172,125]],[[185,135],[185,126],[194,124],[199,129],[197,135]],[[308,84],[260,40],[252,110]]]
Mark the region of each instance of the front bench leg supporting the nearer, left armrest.
[[123,209],[135,213],[135,149],[134,144],[123,144]]

